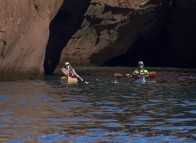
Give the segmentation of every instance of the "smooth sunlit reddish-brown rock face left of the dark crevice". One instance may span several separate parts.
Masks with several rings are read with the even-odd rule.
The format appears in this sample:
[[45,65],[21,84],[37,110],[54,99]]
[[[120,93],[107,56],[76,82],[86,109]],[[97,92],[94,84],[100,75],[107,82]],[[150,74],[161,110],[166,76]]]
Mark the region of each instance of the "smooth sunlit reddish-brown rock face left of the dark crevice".
[[0,80],[43,77],[49,24],[62,2],[0,1]]

